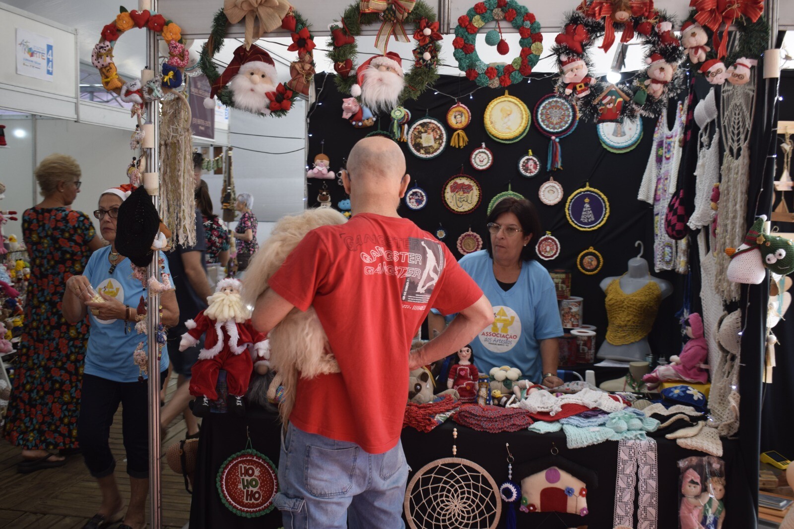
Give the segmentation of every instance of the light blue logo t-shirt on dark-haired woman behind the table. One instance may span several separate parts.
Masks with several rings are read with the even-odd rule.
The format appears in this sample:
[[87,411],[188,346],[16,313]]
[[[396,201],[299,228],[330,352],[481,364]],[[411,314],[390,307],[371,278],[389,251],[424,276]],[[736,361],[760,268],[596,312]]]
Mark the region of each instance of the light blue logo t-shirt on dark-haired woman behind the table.
[[[464,255],[458,263],[483,289],[494,309],[493,323],[471,343],[477,370],[487,374],[492,367],[517,367],[530,381],[540,383],[540,341],[563,335],[549,272],[537,261],[523,261],[518,281],[505,292],[496,282],[488,251]],[[446,320],[454,316],[446,316]]]

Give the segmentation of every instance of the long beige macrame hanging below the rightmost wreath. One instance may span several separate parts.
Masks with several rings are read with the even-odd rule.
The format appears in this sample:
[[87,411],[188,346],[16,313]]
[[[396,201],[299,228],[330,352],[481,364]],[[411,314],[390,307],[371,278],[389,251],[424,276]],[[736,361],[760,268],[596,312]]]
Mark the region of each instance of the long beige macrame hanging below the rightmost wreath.
[[[755,78],[743,85],[723,86],[720,109],[723,164],[719,184],[719,228],[716,247],[734,247],[747,231],[747,189],[750,183],[750,125],[755,112]],[[718,251],[715,286],[725,301],[737,301],[739,283],[728,281],[730,257]]]

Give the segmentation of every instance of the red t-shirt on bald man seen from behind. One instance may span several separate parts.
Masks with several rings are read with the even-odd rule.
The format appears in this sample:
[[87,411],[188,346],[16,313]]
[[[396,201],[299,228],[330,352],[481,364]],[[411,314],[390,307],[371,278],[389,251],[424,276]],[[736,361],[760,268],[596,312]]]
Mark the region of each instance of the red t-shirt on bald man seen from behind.
[[314,306],[341,370],[299,379],[291,422],[370,454],[399,440],[410,343],[430,308],[454,314],[483,295],[430,233],[372,213],[306,234],[269,285]]

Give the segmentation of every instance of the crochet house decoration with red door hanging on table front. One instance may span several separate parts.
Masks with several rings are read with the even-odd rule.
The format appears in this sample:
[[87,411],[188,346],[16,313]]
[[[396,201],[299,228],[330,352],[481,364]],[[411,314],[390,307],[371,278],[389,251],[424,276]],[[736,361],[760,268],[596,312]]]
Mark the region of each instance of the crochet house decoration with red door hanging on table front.
[[588,514],[588,489],[598,486],[592,470],[552,455],[517,467],[521,480],[523,512]]

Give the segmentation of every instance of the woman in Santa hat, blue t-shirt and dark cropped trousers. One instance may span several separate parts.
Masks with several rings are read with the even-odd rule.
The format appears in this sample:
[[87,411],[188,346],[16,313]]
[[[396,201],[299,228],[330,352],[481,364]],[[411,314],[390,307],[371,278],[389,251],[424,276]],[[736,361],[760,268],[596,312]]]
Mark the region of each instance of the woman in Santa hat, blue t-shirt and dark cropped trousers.
[[[139,343],[147,350],[145,335],[135,331],[137,306],[141,296],[148,296],[141,282],[132,277],[129,259],[116,251],[116,223],[118,207],[132,186],[114,187],[99,197],[99,219],[102,237],[110,242],[95,251],[88,260],[83,275],[69,278],[64,293],[64,317],[72,324],[85,320],[91,325],[88,332],[86,365],[83,373],[80,416],[77,437],[83,458],[91,475],[102,490],[102,505],[85,527],[105,527],[122,518],[124,500],[114,477],[116,461],[110,451],[110,425],[121,404],[121,428],[127,454],[129,474],[129,506],[120,527],[145,527],[146,496],[148,494],[148,382],[141,377],[133,362],[133,352]],[[164,259],[169,273],[168,260]],[[92,301],[89,287],[93,286],[102,302]],[[163,307],[161,322],[172,326],[179,320],[174,291],[160,295]],[[148,352],[148,351],[147,351]],[[160,370],[168,367],[168,351],[164,347]],[[139,378],[140,377],[140,378]],[[161,376],[160,381],[164,381]]]

